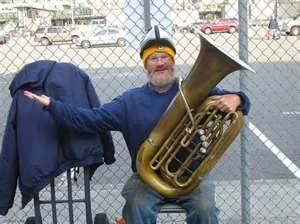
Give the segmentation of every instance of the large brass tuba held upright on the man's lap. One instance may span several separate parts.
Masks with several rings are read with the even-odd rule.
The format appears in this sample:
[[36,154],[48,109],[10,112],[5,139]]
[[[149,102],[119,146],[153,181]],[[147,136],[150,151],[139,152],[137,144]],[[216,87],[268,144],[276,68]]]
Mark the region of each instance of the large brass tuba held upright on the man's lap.
[[208,97],[236,70],[254,70],[214,46],[203,33],[200,52],[177,95],[137,155],[142,180],[167,198],[191,192],[215,166],[243,126],[241,111],[224,113]]

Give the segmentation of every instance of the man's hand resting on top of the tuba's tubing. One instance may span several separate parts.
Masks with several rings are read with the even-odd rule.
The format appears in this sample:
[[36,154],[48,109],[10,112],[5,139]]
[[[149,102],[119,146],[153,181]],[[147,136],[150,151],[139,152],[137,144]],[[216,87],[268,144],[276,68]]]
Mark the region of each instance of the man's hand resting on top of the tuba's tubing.
[[241,98],[237,94],[226,94],[222,96],[212,96],[216,101],[216,106],[222,112],[235,111],[241,105]]

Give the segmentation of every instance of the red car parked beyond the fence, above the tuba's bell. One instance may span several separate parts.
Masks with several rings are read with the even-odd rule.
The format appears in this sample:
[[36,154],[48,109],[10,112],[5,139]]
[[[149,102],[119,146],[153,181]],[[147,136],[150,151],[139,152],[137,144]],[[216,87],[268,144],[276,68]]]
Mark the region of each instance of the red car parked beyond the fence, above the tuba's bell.
[[239,22],[235,18],[220,18],[211,23],[204,23],[200,30],[205,34],[211,33],[234,33],[240,28]]

